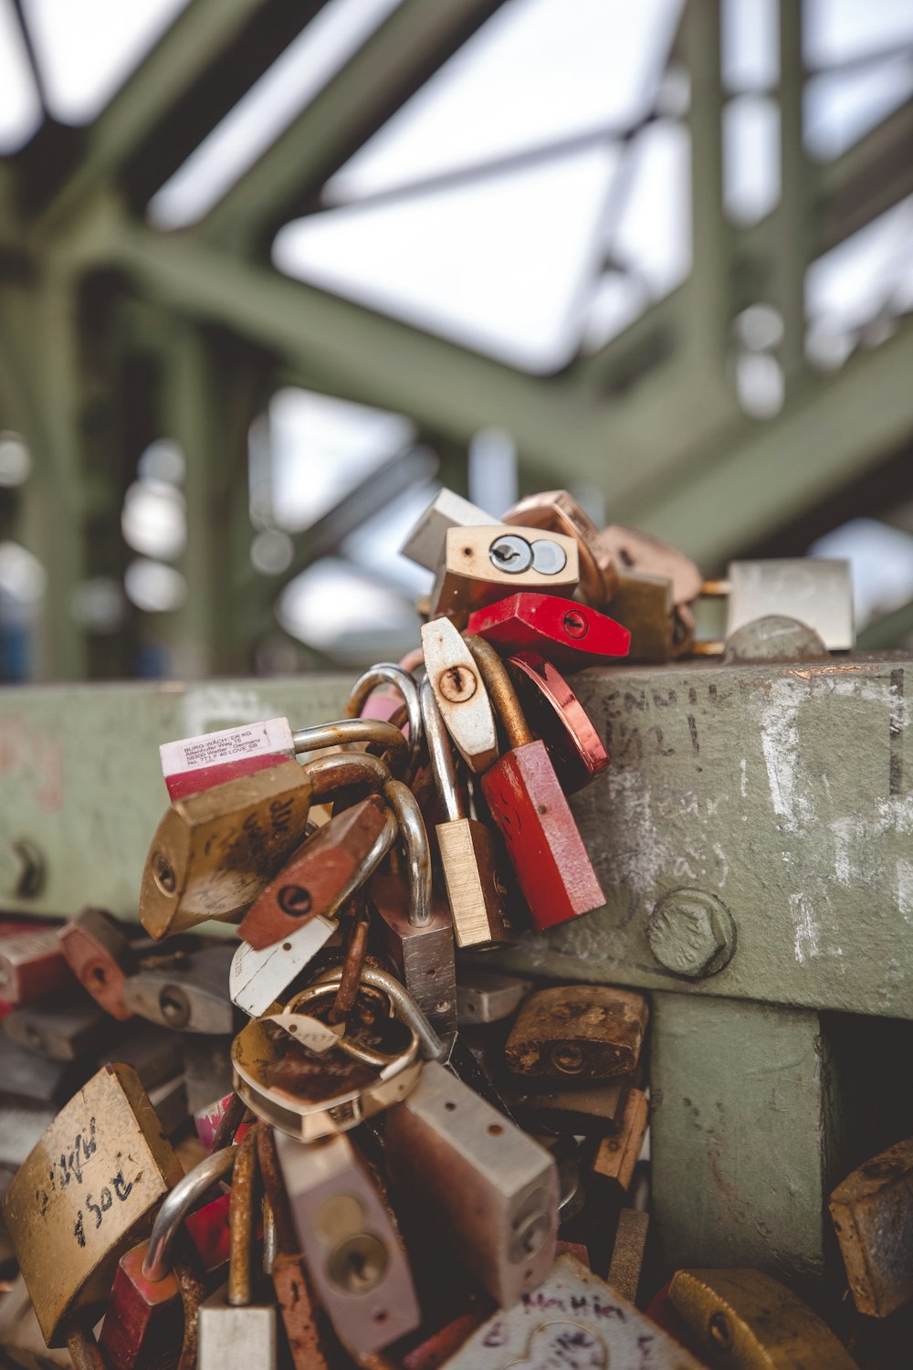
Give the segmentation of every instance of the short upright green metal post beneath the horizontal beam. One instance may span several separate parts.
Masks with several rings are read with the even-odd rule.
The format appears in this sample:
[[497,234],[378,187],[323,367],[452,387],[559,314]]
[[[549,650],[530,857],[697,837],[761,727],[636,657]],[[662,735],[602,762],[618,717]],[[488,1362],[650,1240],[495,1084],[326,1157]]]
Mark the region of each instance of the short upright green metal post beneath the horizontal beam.
[[669,1269],[750,1266],[813,1289],[832,1254],[824,1196],[842,1173],[820,1017],[653,996],[650,1156]]

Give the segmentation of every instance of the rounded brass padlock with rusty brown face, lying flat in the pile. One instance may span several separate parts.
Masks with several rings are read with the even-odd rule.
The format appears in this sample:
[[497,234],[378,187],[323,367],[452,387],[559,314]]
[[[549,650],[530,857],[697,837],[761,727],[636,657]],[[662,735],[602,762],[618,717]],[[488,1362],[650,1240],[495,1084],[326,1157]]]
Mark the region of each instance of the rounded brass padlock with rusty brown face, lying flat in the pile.
[[341,970],[327,971],[282,1014],[249,1022],[231,1048],[235,1092],[261,1121],[301,1141],[345,1132],[404,1099],[422,1071],[419,1049],[427,1059],[445,1055],[402,985],[374,966],[364,966],[361,982],[381,991],[383,1012],[375,1000],[365,1025],[326,1026],[320,1019],[341,982]]

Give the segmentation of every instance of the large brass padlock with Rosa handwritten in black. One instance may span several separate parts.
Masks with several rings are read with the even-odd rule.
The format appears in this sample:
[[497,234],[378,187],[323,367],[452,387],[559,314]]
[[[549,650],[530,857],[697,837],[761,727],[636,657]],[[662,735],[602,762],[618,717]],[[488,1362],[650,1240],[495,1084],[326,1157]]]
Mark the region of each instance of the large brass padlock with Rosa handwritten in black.
[[71,1317],[101,1311],[118,1259],[179,1178],[129,1066],[105,1066],[59,1112],[3,1204],[49,1345],[62,1344]]

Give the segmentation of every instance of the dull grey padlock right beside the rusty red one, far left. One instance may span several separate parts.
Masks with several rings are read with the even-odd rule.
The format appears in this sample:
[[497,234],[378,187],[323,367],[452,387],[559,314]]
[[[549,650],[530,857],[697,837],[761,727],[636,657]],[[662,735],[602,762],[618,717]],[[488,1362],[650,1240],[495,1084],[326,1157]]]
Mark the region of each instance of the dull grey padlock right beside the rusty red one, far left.
[[230,1033],[227,992],[234,945],[148,958],[123,986],[123,1003],[149,1022],[178,1032]]

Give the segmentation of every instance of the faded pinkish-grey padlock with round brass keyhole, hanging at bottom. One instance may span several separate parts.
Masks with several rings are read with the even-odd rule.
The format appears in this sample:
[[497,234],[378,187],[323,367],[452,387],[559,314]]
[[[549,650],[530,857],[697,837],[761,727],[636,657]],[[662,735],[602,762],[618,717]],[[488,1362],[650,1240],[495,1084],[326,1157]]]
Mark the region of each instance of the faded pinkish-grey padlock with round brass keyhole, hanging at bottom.
[[420,1323],[390,1217],[348,1137],[303,1147],[275,1134],[298,1249],[346,1349],[370,1355]]

